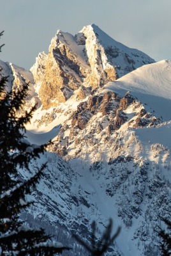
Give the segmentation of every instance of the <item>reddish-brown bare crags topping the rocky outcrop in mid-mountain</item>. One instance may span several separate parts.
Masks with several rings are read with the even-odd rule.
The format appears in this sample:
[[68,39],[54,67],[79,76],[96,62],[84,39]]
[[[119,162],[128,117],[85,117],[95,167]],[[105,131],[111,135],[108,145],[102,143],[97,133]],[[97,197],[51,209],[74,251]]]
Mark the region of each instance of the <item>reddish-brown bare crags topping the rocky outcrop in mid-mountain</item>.
[[[98,112],[100,112],[104,117],[108,116],[107,120],[110,120],[108,123],[108,133],[119,129],[121,125],[123,125],[128,119],[126,114],[121,111],[121,106],[122,108],[123,106],[126,108],[126,106],[128,107],[134,101],[135,99],[128,95],[128,93],[126,93],[123,98],[114,92],[104,93],[103,96],[90,95],[87,101],[78,104],[77,111],[73,113],[71,120],[72,131],[70,133],[70,137],[73,138],[73,136],[75,136],[75,128],[80,130],[85,129],[89,120],[91,120],[91,118]],[[124,102],[126,102],[126,104],[124,104]],[[96,127],[95,132],[98,131],[99,133],[103,129],[103,125],[98,123],[98,127]]]

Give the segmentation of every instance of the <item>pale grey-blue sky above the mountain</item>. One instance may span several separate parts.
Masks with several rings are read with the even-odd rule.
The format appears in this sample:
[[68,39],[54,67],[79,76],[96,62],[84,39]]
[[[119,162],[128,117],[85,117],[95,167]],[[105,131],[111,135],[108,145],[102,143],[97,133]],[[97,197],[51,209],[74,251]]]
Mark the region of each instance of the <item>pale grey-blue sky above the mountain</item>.
[[57,29],[75,35],[96,24],[156,61],[171,59],[171,0],[1,0],[0,60],[29,70]]

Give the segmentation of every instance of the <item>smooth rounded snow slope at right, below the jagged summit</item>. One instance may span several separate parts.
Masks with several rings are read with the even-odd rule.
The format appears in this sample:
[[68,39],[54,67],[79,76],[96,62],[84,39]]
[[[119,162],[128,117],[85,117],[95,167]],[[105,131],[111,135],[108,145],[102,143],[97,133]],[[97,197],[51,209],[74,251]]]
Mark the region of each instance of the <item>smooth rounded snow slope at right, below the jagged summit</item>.
[[121,95],[131,92],[158,116],[171,120],[171,61],[163,60],[151,65],[137,68],[130,74],[121,77],[114,83],[105,86]]

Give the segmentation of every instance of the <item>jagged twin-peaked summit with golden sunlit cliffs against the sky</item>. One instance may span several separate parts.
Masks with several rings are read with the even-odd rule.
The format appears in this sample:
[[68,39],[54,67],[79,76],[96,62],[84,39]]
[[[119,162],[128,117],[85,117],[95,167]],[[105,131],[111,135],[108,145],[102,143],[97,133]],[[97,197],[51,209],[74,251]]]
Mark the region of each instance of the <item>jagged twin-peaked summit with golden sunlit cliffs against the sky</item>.
[[152,62],[143,52],[116,42],[93,24],[75,36],[58,30],[48,55],[39,54],[31,72],[43,108],[48,109],[68,100],[82,85],[99,88]]

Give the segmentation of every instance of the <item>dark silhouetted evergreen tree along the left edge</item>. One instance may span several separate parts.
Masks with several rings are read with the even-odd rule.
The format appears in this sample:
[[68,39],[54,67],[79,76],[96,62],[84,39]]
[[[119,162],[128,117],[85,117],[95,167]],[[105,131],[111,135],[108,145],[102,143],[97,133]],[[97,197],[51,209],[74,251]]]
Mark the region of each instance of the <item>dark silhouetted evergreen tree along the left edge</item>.
[[[2,33],[0,33],[0,36]],[[2,46],[2,45],[1,45]],[[1,51],[1,47],[0,47]],[[29,171],[31,160],[40,157],[47,145],[31,147],[26,140],[25,125],[31,120],[34,108],[22,114],[27,85],[18,92],[7,92],[7,77],[0,79],[0,255],[54,255],[69,250],[50,242],[43,229],[33,230],[19,218],[19,213],[33,202],[27,202],[43,175],[46,164],[30,179],[22,182],[18,170]]]

